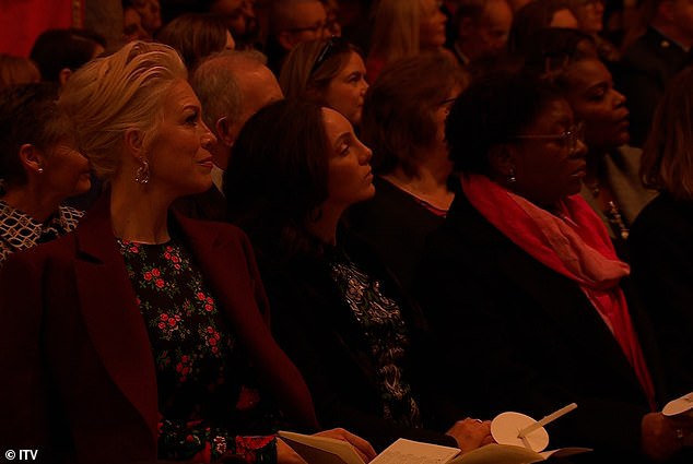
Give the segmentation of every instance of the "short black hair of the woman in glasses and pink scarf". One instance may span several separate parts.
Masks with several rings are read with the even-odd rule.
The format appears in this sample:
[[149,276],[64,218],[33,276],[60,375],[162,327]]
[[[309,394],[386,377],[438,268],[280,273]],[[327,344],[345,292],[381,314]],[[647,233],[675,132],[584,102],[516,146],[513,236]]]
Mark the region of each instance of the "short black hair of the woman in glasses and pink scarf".
[[513,142],[559,99],[553,85],[522,73],[496,72],[472,82],[445,121],[454,169],[491,177],[491,147]]

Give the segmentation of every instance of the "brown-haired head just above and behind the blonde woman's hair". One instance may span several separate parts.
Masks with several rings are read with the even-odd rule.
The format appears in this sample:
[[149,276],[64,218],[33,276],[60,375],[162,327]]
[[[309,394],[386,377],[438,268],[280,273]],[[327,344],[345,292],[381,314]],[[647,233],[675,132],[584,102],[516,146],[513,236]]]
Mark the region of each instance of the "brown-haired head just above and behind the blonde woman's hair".
[[161,29],[156,39],[175,48],[190,72],[203,58],[236,46],[224,22],[216,15],[203,13],[176,17]]

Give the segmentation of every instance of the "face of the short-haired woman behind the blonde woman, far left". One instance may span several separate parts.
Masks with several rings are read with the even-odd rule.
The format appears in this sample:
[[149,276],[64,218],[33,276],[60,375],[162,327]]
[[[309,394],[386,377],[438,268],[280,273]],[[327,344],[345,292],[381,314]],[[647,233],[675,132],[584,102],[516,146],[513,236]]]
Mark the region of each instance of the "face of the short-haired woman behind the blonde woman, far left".
[[89,160],[67,141],[47,153],[42,168],[47,190],[62,199],[85,193],[92,186]]

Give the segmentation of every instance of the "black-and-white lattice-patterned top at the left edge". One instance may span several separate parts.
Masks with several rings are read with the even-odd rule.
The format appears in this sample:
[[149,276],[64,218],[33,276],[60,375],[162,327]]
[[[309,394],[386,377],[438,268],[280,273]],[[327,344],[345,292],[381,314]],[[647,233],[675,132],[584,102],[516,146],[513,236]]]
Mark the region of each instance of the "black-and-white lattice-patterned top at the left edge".
[[0,200],[0,266],[16,251],[54,240],[73,230],[83,214],[70,206],[59,206],[58,212],[42,224]]

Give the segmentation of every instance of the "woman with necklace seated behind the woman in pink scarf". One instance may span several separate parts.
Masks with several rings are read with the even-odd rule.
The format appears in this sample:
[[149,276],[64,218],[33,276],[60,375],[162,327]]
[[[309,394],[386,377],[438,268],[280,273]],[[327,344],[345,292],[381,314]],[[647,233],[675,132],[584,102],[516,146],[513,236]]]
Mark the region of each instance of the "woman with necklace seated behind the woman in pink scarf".
[[547,28],[535,35],[525,70],[560,88],[584,126],[586,174],[580,194],[602,219],[621,258],[633,221],[656,192],[639,178],[642,151],[629,146],[630,112],[591,37]]

